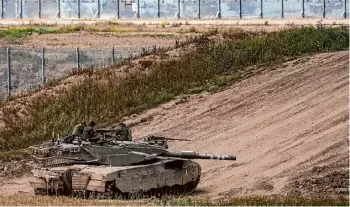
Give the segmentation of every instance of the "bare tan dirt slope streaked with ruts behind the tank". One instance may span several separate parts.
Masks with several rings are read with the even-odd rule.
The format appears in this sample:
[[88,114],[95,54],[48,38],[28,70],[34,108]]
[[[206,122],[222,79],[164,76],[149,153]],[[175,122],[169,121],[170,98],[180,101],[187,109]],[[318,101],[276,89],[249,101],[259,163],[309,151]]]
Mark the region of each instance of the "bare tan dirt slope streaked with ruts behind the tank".
[[[198,160],[199,196],[284,194],[289,181],[315,167],[348,169],[348,65],[347,51],[301,58],[222,92],[169,102],[129,122],[148,120],[133,127],[134,137],[191,140],[170,143],[174,150],[237,157]],[[29,179],[2,179],[0,194],[32,193]]]

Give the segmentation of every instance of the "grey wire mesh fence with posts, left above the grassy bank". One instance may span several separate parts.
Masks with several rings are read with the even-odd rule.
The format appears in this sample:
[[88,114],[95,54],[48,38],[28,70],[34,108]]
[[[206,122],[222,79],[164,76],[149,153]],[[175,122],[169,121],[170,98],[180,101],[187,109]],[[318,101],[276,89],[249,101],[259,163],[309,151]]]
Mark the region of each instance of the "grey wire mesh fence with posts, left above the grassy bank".
[[155,46],[129,48],[0,48],[0,100],[26,92],[73,70],[104,68]]

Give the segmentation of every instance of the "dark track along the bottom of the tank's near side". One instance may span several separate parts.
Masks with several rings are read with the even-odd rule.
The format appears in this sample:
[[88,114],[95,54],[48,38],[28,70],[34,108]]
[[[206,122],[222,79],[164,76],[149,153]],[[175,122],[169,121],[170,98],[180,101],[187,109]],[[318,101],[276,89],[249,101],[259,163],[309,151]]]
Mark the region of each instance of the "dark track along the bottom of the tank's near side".
[[[148,191],[138,190],[134,192],[122,193],[118,189],[114,188],[113,183],[107,184],[106,192],[96,192],[88,190],[73,190],[72,194],[68,195],[74,198],[81,199],[120,199],[120,200],[136,200],[147,199],[151,197],[161,198],[164,196],[180,196],[191,194],[198,186],[200,178],[196,181],[186,183],[185,185],[164,186],[162,188],[152,188]],[[50,195],[61,196],[66,195],[62,191],[47,190],[47,189],[35,189],[35,195]]]

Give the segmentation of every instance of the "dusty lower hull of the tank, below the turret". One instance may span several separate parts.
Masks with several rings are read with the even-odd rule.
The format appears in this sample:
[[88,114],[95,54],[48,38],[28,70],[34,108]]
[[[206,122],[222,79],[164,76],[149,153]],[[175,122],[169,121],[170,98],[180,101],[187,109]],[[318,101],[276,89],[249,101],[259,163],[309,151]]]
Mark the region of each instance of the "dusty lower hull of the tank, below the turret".
[[139,199],[192,193],[201,167],[192,160],[170,158],[134,166],[70,165],[32,172],[36,180],[31,186],[36,194]]

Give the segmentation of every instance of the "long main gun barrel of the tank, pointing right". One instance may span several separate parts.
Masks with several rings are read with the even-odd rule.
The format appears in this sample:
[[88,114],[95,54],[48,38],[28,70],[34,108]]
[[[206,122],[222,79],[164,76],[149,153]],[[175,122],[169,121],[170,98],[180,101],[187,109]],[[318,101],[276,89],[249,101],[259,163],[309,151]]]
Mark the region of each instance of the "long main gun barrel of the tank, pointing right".
[[164,152],[160,156],[179,157],[179,158],[186,158],[186,159],[236,160],[236,157],[232,155],[200,154],[194,151]]

